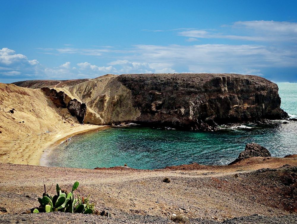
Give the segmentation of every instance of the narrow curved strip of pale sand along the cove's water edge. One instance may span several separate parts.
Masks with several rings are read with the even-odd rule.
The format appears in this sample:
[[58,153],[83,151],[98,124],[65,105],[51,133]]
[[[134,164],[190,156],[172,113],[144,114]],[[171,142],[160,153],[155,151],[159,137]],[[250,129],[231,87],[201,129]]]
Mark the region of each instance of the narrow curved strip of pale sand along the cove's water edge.
[[[85,125],[89,125],[89,124],[85,124]],[[95,126],[95,125],[91,125],[91,126]],[[57,137],[57,138],[53,139],[52,141],[47,142],[47,144],[45,144],[43,151],[39,157],[39,162],[38,162],[37,166],[47,167],[46,160],[45,160],[46,156],[48,156],[52,152],[52,150],[55,146],[61,144],[69,137],[72,137],[72,136],[75,136],[78,134],[82,134],[82,133],[86,133],[86,132],[92,132],[92,131],[99,130],[99,129],[104,130],[104,129],[108,129],[108,128],[110,128],[110,126],[108,126],[108,125],[96,125],[96,127],[88,128],[88,129],[81,130],[81,131],[67,132],[67,133],[61,135],[60,137]]]

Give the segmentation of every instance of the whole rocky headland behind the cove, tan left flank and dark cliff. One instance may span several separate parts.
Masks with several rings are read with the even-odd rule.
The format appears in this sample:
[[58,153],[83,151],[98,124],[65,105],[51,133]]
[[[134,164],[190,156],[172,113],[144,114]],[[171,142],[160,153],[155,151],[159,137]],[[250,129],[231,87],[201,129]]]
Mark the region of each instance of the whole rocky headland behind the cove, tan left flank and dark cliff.
[[[277,84],[238,74],[123,74],[59,81],[70,98],[85,103],[84,123],[133,122],[187,130],[214,130],[217,124],[282,119]],[[22,83],[15,83],[22,85]],[[45,81],[34,82],[42,87]],[[31,84],[26,81],[26,85]],[[31,85],[32,86],[32,85]]]

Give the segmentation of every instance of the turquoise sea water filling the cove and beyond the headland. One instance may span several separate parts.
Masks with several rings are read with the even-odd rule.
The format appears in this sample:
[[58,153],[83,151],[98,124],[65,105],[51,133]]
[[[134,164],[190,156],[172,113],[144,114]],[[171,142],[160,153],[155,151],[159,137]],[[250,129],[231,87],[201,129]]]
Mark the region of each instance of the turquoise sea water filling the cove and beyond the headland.
[[[297,84],[278,83],[282,108],[297,117]],[[73,136],[45,157],[45,165],[65,167],[123,166],[157,169],[198,162],[224,165],[257,142],[272,156],[297,154],[297,122],[241,125],[215,132],[191,132],[144,127],[110,128]]]

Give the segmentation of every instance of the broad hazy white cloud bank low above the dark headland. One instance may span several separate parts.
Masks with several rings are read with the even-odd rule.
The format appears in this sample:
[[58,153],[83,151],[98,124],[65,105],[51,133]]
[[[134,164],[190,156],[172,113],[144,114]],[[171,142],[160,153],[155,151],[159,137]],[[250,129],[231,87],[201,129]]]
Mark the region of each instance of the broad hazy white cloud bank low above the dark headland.
[[297,57],[294,49],[262,45],[137,45],[135,47],[138,54],[133,58],[145,60],[149,64],[168,63],[171,68],[182,67],[192,72],[222,73],[267,67],[294,67]]

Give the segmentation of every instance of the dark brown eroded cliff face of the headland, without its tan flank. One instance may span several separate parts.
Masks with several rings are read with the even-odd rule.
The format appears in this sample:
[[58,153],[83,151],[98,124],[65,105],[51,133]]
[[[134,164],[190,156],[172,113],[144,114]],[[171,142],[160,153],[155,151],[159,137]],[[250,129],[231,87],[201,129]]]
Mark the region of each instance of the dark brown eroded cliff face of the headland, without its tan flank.
[[218,124],[281,119],[276,84],[237,74],[125,74],[118,81],[131,90],[141,123],[191,130]]

